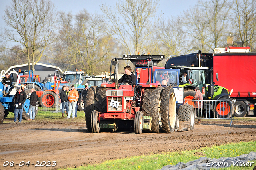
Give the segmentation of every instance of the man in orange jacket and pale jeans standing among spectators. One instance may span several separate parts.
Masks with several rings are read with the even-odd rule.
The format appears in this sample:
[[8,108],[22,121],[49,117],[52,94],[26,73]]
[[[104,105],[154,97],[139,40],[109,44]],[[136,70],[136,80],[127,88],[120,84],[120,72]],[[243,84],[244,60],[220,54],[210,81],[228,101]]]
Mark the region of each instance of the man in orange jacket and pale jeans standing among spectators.
[[69,101],[68,107],[69,107],[69,109],[68,109],[68,117],[67,117],[67,119],[70,118],[71,111],[73,111],[72,119],[75,119],[76,105],[77,105],[78,98],[79,98],[78,91],[75,89],[75,86],[72,85],[71,86],[71,91],[68,94],[68,101]]

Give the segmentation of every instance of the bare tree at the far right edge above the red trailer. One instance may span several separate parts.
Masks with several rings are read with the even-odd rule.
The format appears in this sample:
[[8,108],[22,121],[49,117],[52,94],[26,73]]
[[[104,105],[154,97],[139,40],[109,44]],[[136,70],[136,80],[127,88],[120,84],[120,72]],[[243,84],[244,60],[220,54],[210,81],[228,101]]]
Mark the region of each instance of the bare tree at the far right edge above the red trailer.
[[242,42],[242,46],[250,46],[255,42],[256,33],[256,4],[254,0],[236,0],[234,3],[235,26],[234,36]]

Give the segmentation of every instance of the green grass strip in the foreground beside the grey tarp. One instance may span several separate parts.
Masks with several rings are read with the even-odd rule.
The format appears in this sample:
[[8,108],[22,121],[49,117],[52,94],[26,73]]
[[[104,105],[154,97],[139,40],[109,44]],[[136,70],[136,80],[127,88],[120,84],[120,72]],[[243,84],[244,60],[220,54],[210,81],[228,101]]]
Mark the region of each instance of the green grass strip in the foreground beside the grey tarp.
[[[166,165],[176,165],[178,162],[188,162],[199,159],[202,156],[210,158],[220,157],[236,157],[242,154],[256,151],[256,141],[240,142],[234,144],[226,144],[220,146],[213,146],[211,148],[202,148],[199,150],[169,152],[163,154],[155,154],[150,156],[134,156],[131,158],[117,159],[112,161],[105,161],[102,164],[94,164],[88,166],[80,166],[79,168],[66,168],[59,170],[156,170],[161,169]],[[225,170],[244,170],[253,169],[256,161],[252,161],[252,167],[229,167]]]

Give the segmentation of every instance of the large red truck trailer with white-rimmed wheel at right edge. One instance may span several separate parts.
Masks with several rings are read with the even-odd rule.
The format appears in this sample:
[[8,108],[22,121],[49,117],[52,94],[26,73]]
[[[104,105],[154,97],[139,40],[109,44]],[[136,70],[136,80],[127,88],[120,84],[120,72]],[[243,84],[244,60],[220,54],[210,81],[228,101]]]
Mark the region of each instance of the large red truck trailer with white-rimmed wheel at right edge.
[[218,85],[230,92],[233,89],[230,98],[236,99],[236,117],[256,115],[256,53],[249,52],[249,49],[217,48],[213,53],[213,67],[219,76]]

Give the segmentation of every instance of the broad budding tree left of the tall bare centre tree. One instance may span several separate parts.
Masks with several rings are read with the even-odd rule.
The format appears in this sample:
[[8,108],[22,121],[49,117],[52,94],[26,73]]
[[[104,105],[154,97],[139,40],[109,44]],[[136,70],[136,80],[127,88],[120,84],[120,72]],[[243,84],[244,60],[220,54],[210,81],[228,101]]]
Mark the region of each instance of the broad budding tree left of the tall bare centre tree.
[[102,16],[83,10],[73,20],[70,13],[61,13],[60,25],[61,46],[67,49],[60,51],[66,51],[64,56],[69,59],[67,68],[83,69],[88,74],[98,72],[97,67],[110,57],[110,45],[113,45],[103,32]]

